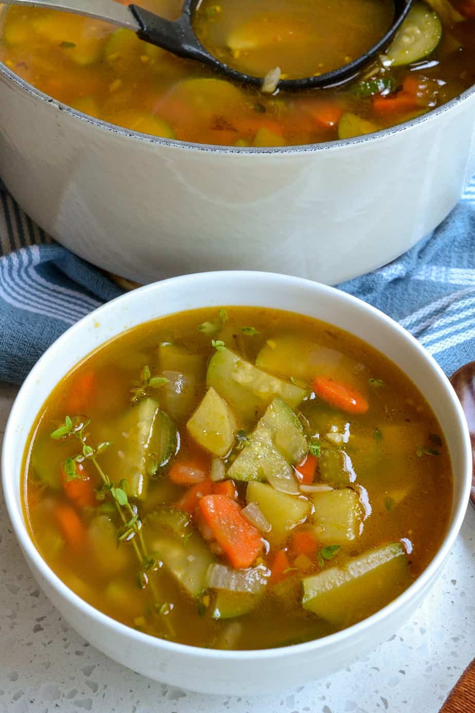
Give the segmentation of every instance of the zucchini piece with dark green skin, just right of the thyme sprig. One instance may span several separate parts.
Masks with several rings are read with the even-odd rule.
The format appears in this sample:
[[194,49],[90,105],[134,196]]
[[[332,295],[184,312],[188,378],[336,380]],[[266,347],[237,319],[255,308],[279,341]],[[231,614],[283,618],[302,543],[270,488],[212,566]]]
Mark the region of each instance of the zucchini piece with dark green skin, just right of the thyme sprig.
[[152,466],[164,466],[177,446],[177,433],[155,399],[142,399],[113,424],[110,448],[101,463],[115,485],[125,478],[127,494],[145,498]]

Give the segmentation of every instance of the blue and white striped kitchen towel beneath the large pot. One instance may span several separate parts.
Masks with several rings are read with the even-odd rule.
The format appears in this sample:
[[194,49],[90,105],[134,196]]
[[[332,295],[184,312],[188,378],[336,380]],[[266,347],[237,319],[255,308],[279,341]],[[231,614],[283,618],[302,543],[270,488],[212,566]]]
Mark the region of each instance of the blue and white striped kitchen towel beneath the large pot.
[[[122,290],[33,225],[0,184],[0,380],[19,384],[68,327]],[[451,374],[475,359],[475,176],[432,235],[340,284],[397,319]]]

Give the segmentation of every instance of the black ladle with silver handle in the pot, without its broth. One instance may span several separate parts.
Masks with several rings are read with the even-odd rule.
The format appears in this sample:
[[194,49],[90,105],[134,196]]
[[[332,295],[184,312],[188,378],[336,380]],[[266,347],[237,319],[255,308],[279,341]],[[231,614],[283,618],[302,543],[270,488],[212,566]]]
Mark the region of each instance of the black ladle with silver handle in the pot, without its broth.
[[[193,29],[193,14],[199,0],[184,0],[182,14],[177,20],[170,21],[155,15],[138,5],[120,5],[113,0],[1,0],[6,5],[31,5],[53,10],[73,12],[99,20],[112,22],[121,27],[127,27],[137,33],[140,39],[162,47],[172,54],[201,62],[216,72],[233,81],[254,86],[262,86],[263,77],[243,74],[227,66],[210,54],[197,38]],[[412,0],[395,0],[395,14],[392,26],[384,37],[370,50],[353,62],[345,64],[331,72],[303,79],[281,79],[278,88],[310,89],[335,86],[353,78],[363,67],[382,53],[390,45],[392,38],[400,28]],[[269,67],[269,69],[272,69]]]

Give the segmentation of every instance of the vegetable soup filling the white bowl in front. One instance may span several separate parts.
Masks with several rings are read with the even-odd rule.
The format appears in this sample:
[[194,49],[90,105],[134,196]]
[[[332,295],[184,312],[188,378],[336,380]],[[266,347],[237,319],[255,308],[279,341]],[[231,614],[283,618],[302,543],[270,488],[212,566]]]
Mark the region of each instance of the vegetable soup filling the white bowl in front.
[[31,536],[86,602],[220,649],[313,640],[427,567],[444,436],[414,384],[340,329],[199,309],[113,339],[56,387],[24,463]]

